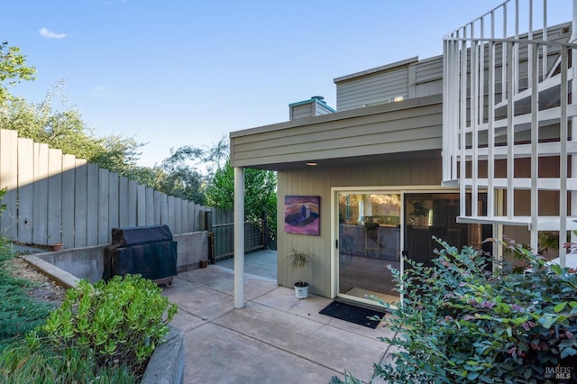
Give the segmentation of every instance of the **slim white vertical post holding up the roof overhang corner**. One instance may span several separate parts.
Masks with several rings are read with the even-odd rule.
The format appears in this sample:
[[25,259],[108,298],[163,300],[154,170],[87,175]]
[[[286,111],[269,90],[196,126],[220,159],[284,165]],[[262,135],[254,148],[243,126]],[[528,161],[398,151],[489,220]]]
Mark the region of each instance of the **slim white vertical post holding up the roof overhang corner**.
[[244,169],[234,167],[234,308],[244,307]]

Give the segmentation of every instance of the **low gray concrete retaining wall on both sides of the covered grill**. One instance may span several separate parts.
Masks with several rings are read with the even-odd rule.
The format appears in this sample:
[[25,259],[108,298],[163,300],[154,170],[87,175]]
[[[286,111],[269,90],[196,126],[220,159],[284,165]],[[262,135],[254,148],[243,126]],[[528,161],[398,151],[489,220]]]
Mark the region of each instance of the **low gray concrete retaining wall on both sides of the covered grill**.
[[[199,261],[208,260],[208,239],[206,231],[176,234],[177,271],[198,268]],[[62,251],[36,253],[42,261],[65,270],[78,279],[88,279],[91,283],[102,279],[105,270],[104,254],[106,245],[72,248]]]

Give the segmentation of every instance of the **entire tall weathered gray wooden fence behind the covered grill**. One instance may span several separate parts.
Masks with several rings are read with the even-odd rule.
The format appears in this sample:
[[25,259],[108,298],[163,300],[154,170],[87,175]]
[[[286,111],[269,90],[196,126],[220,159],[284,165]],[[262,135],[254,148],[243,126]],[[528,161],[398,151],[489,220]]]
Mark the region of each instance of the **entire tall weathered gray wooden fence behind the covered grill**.
[[167,224],[173,234],[206,230],[206,206],[171,197],[47,144],[0,130],[0,235],[67,248],[111,242],[111,229]]

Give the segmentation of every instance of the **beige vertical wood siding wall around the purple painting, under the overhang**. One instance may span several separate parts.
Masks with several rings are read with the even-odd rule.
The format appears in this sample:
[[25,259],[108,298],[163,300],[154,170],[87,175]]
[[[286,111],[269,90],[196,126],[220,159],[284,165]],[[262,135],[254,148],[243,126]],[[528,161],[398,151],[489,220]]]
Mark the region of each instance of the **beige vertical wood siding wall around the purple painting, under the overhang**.
[[[441,158],[398,160],[349,167],[307,168],[279,172],[278,193],[278,262],[279,285],[292,287],[298,277],[293,274],[286,255],[291,249],[314,255],[305,274],[311,293],[329,297],[331,293],[331,188],[385,186],[440,186]],[[284,201],[287,195],[320,196],[320,235],[307,236],[284,232]]]

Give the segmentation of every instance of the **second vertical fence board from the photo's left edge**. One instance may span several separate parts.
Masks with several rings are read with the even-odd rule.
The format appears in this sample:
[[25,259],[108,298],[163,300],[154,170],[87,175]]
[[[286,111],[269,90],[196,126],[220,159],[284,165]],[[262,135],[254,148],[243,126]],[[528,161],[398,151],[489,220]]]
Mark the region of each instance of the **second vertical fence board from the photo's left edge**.
[[32,243],[34,151],[30,139],[18,139],[18,240]]

